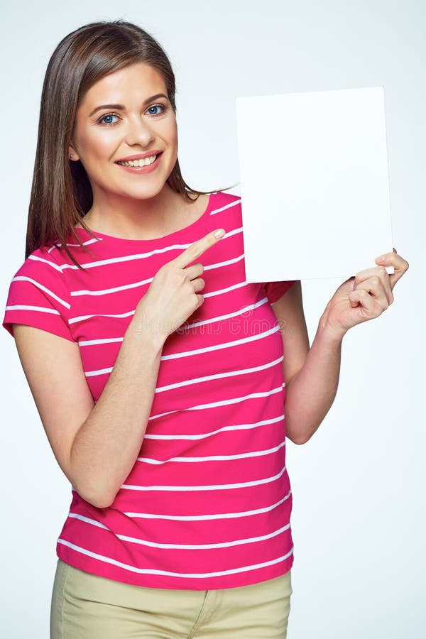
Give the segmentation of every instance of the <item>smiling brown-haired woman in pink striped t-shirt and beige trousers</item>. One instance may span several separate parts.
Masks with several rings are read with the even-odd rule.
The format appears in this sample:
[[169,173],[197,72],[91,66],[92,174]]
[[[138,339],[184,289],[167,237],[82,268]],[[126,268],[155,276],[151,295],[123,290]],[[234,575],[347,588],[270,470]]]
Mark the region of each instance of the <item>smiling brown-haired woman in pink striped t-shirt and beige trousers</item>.
[[344,334],[408,263],[343,283],[310,347],[300,281],[247,284],[242,237],[239,197],[182,179],[158,43],[121,21],[67,35],[3,323],[72,484],[53,638],[286,635],[285,436],[317,430]]

